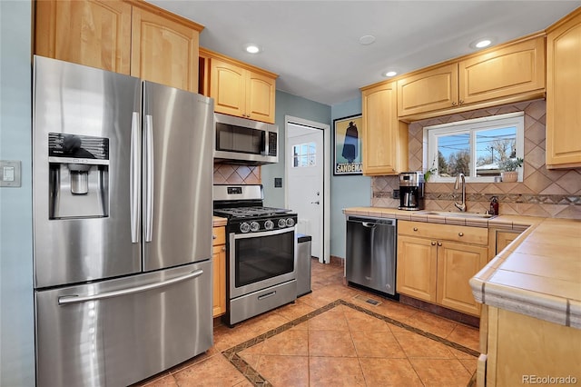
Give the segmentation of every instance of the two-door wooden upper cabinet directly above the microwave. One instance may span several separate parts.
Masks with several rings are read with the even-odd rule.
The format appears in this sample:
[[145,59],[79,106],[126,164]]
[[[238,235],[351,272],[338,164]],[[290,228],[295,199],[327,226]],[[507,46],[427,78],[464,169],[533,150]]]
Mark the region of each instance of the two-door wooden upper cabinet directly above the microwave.
[[214,111],[274,124],[276,74],[239,61],[201,50],[209,69],[204,94],[214,99]]

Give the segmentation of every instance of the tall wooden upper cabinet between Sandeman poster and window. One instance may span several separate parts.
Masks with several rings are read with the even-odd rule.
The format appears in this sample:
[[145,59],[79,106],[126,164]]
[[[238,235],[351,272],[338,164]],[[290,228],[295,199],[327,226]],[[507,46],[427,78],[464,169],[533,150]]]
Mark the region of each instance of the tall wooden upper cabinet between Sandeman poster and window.
[[408,170],[408,124],[398,121],[395,82],[361,88],[363,174]]

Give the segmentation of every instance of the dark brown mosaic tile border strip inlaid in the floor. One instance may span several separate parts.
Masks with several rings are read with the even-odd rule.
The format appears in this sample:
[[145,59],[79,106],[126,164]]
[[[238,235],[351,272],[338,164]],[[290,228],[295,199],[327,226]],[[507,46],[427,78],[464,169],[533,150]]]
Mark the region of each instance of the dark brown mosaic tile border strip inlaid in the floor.
[[[371,304],[373,305],[373,303],[371,303]],[[309,321],[310,319],[312,319],[313,317],[318,316],[321,313],[328,312],[338,305],[348,306],[351,309],[354,309],[358,312],[368,314],[369,316],[375,317],[376,319],[379,319],[379,320],[382,320],[386,323],[390,323],[392,325],[398,326],[399,328],[403,328],[405,330],[408,330],[409,332],[417,333],[419,335],[427,337],[428,339],[434,340],[436,342],[441,342],[445,345],[448,345],[448,347],[454,348],[455,350],[458,350],[461,352],[468,353],[471,356],[478,357],[478,355],[479,355],[478,351],[472,350],[468,347],[465,347],[464,345],[458,344],[457,342],[451,342],[448,339],[445,339],[443,337],[439,337],[433,333],[422,331],[421,329],[418,329],[418,328],[411,326],[407,323],[400,323],[397,320],[394,320],[394,319],[389,318],[387,316],[383,316],[379,313],[374,313],[372,311],[369,311],[368,309],[361,308],[360,306],[353,304],[353,303],[349,303],[345,300],[336,300],[333,303],[328,303],[327,305],[320,307],[316,311],[311,312],[311,313],[307,313],[304,316],[301,316],[301,317],[291,321],[290,323],[285,323],[278,328],[272,329],[269,332],[264,332],[256,337],[251,338],[250,340],[248,340],[246,342],[241,342],[240,344],[235,345],[226,351],[223,351],[222,354],[226,357],[226,359],[228,359],[228,361],[230,361],[232,363],[232,365],[234,367],[236,367],[236,369],[238,371],[240,371],[246,377],[246,379],[248,379],[250,382],[254,383],[255,386],[272,386],[271,382],[267,381],[266,378],[264,378],[263,376],[261,376],[261,374],[259,372],[254,370],[254,368],[252,368],[252,366],[248,362],[244,361],[244,359],[241,358],[239,352],[242,352],[248,348],[251,348],[252,346],[254,346],[260,342],[264,342],[268,338],[271,338],[272,336],[279,334],[281,332],[285,332],[285,331],[299,325],[300,323],[305,323],[305,322]],[[472,385],[473,379],[475,379],[475,374],[473,374],[472,378],[470,379],[470,382],[468,382],[468,387]]]

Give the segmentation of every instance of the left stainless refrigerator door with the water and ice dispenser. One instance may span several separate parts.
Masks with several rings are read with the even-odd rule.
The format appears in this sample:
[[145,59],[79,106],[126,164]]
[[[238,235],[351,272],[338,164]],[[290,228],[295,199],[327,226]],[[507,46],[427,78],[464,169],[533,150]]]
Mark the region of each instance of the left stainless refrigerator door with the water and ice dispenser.
[[[140,93],[137,78],[34,56],[35,288],[141,270],[130,194],[139,192],[131,156],[141,144],[132,149],[131,138],[141,130]],[[66,154],[74,141],[78,152]]]

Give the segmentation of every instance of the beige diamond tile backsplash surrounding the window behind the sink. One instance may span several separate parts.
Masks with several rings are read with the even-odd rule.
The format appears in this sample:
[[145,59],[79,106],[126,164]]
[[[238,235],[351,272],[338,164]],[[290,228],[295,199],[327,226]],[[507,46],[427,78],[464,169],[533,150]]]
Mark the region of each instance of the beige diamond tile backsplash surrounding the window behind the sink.
[[[420,171],[423,157],[423,127],[447,124],[488,115],[513,112],[525,113],[525,164],[522,183],[468,183],[466,185],[469,212],[483,213],[490,198],[498,197],[500,214],[522,214],[555,218],[581,219],[581,168],[547,170],[545,164],[545,100],[527,101],[417,121],[409,124],[409,170]],[[427,183],[427,210],[456,210],[454,184]],[[397,207],[392,199],[399,189],[398,176],[377,176],[371,179],[371,205]],[[456,210],[457,211],[457,210]]]

